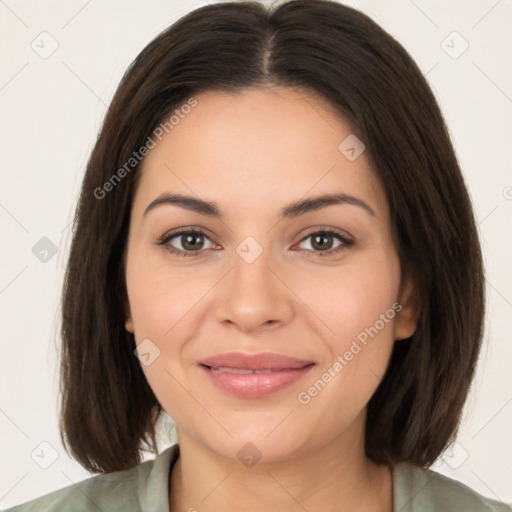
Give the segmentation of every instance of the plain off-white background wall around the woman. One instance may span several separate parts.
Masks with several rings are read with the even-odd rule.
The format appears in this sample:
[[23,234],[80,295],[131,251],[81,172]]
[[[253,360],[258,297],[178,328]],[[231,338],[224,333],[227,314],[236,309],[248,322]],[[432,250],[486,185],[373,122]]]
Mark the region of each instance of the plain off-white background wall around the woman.
[[[427,76],[479,222],[488,285],[485,345],[457,444],[435,469],[512,503],[512,2],[346,3],[398,39]],[[57,428],[58,315],[70,222],[123,72],[161,30],[205,4],[0,0],[2,508],[91,476],[64,452]],[[58,42],[47,59],[31,47],[50,48],[48,36],[38,37],[43,31]],[[453,58],[464,41],[469,47]],[[57,249],[46,262],[43,237]],[[165,448],[171,441],[161,432]],[[43,469],[52,450],[57,459]]]

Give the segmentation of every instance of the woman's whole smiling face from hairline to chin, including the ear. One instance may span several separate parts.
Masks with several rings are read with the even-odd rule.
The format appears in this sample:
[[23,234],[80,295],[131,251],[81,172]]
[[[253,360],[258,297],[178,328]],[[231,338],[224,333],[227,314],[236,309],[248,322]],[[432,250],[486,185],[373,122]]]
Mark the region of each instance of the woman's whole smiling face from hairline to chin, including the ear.
[[[145,158],[131,211],[126,328],[144,374],[178,436],[225,457],[246,443],[271,461],[352,442],[394,340],[415,328],[384,190],[364,151],[339,149],[350,126],[311,94],[195,99]],[[147,210],[165,194],[215,209]],[[204,365],[232,352],[299,363]]]

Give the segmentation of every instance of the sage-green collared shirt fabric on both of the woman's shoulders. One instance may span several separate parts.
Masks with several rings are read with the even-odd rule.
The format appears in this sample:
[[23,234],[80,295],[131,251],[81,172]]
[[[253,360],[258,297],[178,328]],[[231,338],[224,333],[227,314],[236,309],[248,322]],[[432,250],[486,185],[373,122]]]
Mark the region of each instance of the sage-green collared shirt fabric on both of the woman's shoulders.
[[[178,457],[174,444],[132,469],[92,476],[4,512],[169,512],[169,475]],[[393,493],[393,512],[512,512],[510,505],[407,463],[393,470]]]

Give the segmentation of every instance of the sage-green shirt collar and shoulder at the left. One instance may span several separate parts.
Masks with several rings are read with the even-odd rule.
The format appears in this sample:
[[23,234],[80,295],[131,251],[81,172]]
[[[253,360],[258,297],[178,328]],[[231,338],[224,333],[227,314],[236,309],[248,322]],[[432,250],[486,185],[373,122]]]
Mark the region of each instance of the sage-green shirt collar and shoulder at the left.
[[92,476],[4,512],[140,512],[148,510],[148,505],[151,510],[159,510],[153,506],[157,496],[167,502],[167,493],[163,496],[162,491],[166,489],[166,467],[173,454],[175,449],[168,448],[156,459],[134,468]]

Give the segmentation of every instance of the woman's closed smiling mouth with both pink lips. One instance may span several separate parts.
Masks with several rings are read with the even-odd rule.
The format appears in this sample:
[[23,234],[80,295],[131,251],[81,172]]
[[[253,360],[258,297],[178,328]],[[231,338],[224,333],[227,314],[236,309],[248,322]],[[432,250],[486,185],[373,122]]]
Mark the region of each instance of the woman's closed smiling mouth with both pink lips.
[[314,366],[312,361],[272,353],[229,353],[199,362],[211,383],[242,398],[263,398],[276,393],[302,379]]

